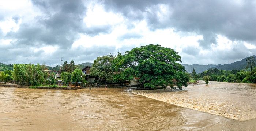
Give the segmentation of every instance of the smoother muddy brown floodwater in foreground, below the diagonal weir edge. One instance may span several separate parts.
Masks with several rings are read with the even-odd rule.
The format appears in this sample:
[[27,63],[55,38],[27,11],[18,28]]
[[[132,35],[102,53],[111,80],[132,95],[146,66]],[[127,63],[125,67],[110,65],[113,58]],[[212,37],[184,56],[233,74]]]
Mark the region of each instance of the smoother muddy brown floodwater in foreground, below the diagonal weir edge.
[[228,119],[125,90],[0,87],[0,130],[256,130],[255,119]]

